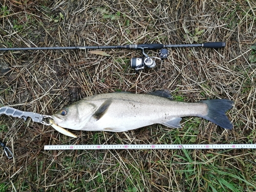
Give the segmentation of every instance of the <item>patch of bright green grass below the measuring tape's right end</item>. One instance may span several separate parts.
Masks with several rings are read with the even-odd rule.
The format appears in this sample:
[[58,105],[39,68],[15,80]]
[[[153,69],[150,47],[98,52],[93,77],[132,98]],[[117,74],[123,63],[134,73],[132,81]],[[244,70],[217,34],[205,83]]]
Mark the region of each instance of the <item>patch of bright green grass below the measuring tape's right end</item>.
[[[185,150],[185,157],[177,156],[177,158],[186,162],[180,172],[183,173],[185,184],[189,183],[187,190],[191,188],[191,184],[195,186],[194,190],[190,189],[191,191],[198,191],[198,188],[201,188],[202,191],[242,191],[244,186],[247,186],[247,190],[256,189],[255,185],[248,181],[248,178],[241,174],[240,170],[228,166],[220,167],[219,163],[223,163],[218,162],[220,155],[201,155],[201,161],[199,162],[191,158]],[[246,166],[247,170],[250,169],[249,167]]]

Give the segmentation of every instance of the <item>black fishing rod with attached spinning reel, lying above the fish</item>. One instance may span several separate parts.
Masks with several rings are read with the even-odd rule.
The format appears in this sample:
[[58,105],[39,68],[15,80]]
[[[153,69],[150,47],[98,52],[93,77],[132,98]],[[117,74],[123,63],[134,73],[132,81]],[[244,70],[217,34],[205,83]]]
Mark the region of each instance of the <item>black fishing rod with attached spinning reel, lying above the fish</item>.
[[[169,51],[165,48],[184,48],[184,47],[203,47],[203,48],[224,48],[226,46],[225,42],[205,42],[203,44],[180,44],[180,45],[164,45],[164,44],[131,44],[122,46],[85,46],[85,47],[28,47],[28,48],[0,48],[0,51],[26,51],[26,50],[64,50],[64,49],[83,49],[83,50],[93,50],[93,49],[130,49],[130,50],[141,50],[144,57],[136,57],[131,59],[131,68],[135,69],[136,72],[139,70],[147,68],[156,67],[155,59],[160,59],[163,61],[169,56]],[[159,57],[150,57],[144,50],[156,50]]]

